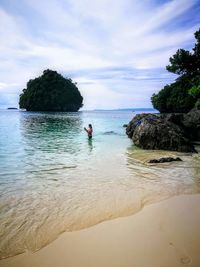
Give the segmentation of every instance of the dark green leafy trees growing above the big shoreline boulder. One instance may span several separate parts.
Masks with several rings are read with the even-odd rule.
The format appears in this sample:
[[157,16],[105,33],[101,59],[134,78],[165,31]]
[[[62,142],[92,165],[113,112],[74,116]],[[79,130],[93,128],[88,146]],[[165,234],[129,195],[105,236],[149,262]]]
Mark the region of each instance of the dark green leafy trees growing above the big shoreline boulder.
[[197,43],[192,52],[178,49],[166,66],[179,77],[151,97],[153,107],[160,112],[188,112],[194,106],[200,109],[200,29],[194,35]]

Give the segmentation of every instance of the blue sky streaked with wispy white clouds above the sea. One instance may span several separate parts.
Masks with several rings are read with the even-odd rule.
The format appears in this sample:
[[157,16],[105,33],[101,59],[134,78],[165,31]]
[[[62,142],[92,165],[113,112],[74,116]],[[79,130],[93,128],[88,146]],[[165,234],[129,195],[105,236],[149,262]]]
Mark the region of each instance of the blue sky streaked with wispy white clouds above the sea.
[[0,0],[0,108],[45,69],[78,83],[84,109],[152,107],[199,14],[200,0]]

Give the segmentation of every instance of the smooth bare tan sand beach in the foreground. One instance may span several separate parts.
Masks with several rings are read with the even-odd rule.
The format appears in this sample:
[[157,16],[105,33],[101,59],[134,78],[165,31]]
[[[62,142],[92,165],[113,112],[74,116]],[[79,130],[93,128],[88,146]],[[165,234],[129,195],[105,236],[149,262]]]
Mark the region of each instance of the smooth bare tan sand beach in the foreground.
[[0,267],[200,266],[200,195],[182,195],[140,212],[66,232],[43,249]]

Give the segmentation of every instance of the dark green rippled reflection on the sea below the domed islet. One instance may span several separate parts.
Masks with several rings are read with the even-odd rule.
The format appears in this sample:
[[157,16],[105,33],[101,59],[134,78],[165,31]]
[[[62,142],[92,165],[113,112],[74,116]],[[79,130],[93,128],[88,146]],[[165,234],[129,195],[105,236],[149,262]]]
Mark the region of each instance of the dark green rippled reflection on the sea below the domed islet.
[[77,114],[34,114],[21,117],[20,128],[27,146],[47,153],[54,151],[75,153],[82,130]]

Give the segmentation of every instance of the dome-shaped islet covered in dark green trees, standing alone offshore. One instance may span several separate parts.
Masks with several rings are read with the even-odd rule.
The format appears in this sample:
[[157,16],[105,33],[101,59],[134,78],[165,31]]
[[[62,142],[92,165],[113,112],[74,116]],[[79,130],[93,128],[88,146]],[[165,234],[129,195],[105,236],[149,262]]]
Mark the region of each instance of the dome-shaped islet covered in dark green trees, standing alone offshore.
[[83,106],[76,83],[53,70],[29,80],[20,95],[19,106],[27,111],[78,111]]

